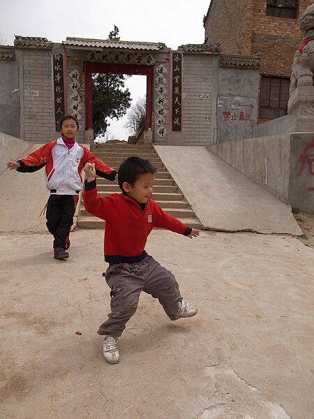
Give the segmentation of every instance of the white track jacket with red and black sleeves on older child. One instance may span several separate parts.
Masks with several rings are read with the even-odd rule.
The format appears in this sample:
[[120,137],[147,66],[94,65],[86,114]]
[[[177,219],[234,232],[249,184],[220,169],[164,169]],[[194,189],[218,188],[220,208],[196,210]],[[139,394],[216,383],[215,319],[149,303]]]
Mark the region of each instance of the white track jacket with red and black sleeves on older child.
[[36,172],[45,166],[47,189],[57,195],[75,195],[82,190],[82,168],[87,162],[95,163],[96,175],[114,180],[117,171],[95,157],[87,147],[75,141],[72,148],[62,138],[47,144],[18,160],[18,172]]

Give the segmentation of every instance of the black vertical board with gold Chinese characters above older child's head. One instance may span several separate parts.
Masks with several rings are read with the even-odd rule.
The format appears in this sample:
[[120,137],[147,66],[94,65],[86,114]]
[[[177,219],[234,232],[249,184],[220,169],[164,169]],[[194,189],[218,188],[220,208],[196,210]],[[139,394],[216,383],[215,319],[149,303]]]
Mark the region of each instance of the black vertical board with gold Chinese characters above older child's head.
[[56,131],[59,131],[59,122],[64,115],[64,86],[63,86],[63,55],[54,54],[52,57],[54,78],[54,122]]

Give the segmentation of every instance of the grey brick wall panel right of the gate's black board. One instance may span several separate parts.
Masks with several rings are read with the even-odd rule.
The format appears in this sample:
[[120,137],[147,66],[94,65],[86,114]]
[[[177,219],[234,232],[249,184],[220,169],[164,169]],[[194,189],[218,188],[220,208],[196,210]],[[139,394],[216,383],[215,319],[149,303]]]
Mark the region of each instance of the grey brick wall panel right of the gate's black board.
[[184,54],[184,145],[209,145],[211,142],[212,67],[212,55]]

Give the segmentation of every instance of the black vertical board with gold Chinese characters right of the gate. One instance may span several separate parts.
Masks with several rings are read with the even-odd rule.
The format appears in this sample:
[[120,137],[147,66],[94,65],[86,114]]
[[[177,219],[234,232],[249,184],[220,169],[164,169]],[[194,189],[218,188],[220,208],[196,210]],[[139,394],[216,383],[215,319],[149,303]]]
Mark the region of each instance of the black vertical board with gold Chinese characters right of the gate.
[[172,54],[172,131],[181,131],[182,54]]

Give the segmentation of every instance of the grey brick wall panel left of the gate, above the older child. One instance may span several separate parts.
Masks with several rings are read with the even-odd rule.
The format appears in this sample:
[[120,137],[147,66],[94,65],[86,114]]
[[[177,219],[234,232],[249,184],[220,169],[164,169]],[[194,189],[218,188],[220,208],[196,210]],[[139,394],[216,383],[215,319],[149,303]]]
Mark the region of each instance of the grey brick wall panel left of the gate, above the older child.
[[51,50],[24,49],[22,53],[24,140],[54,140]]

